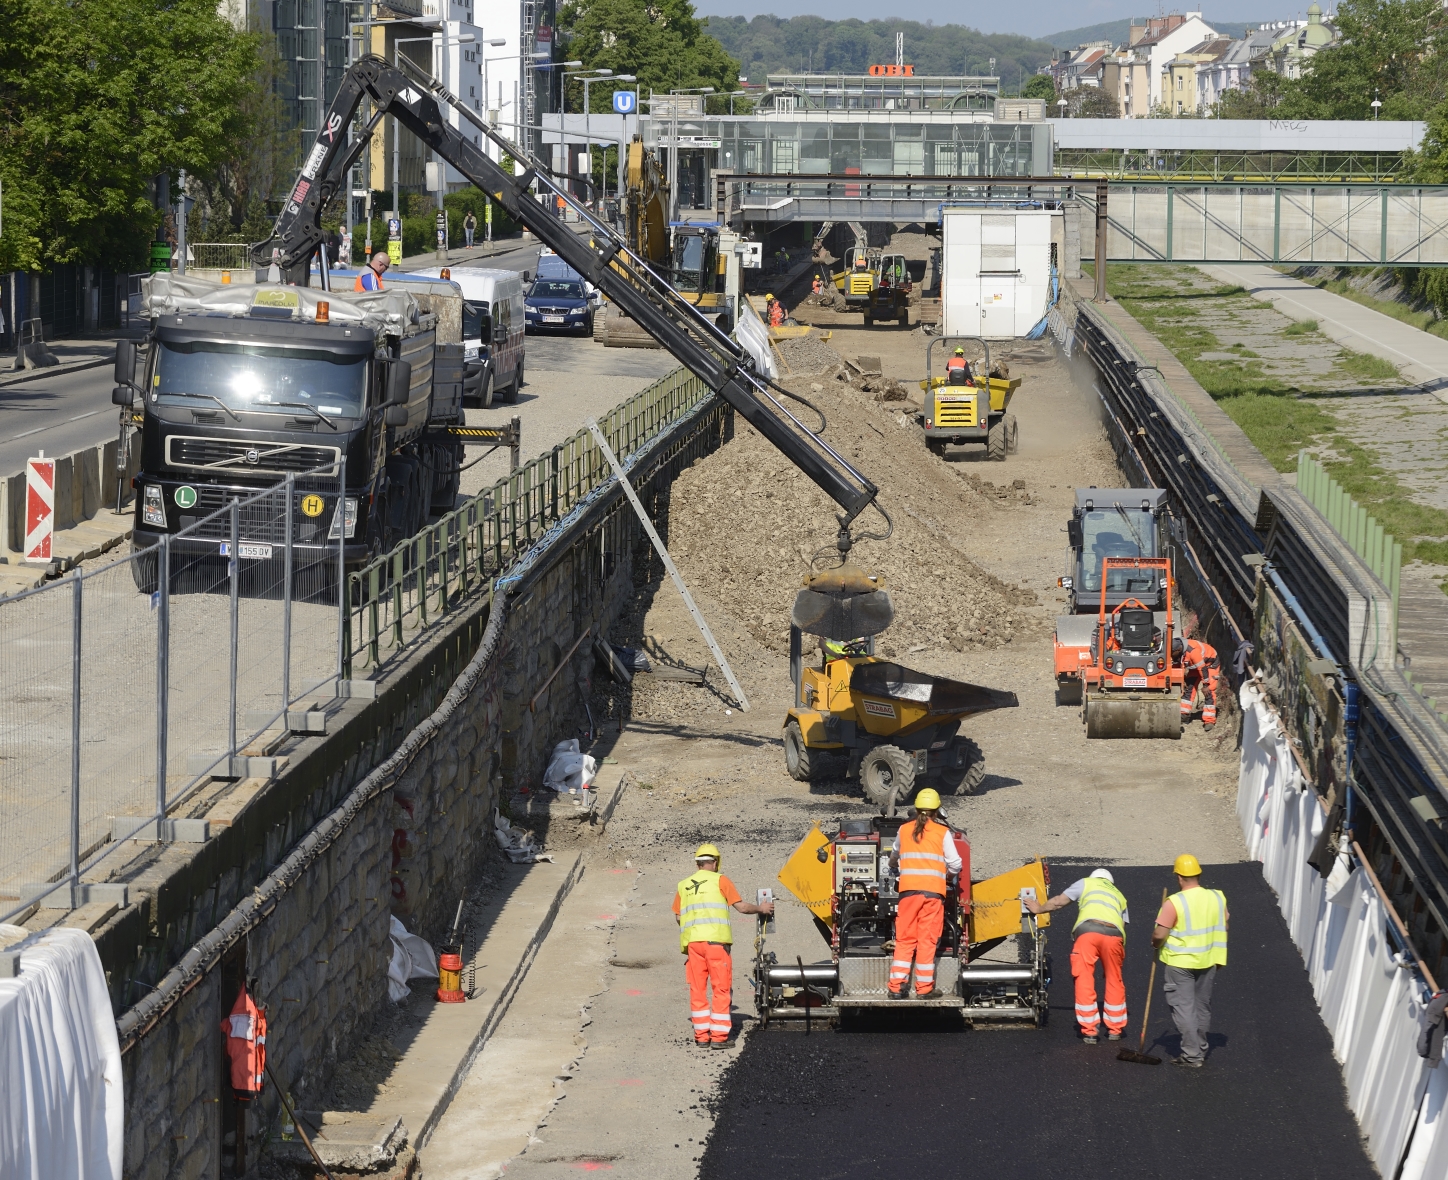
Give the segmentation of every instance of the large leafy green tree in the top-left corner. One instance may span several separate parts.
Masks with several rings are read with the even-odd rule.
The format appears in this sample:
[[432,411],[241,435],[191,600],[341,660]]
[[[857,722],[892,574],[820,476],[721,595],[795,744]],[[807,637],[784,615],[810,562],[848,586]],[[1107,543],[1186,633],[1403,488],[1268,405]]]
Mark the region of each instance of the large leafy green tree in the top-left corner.
[[256,39],[216,0],[0,0],[0,271],[136,265],[152,181],[211,175],[245,133]]

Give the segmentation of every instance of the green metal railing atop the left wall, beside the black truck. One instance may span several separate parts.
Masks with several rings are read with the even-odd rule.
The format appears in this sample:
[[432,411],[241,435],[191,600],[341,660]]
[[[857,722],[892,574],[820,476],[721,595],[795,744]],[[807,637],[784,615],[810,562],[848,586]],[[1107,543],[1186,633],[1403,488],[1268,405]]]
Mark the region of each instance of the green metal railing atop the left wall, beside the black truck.
[[[626,463],[712,397],[675,369],[599,423]],[[430,627],[491,591],[581,501],[613,478],[592,434],[568,442],[504,476],[417,536],[348,575],[342,676],[374,676]]]

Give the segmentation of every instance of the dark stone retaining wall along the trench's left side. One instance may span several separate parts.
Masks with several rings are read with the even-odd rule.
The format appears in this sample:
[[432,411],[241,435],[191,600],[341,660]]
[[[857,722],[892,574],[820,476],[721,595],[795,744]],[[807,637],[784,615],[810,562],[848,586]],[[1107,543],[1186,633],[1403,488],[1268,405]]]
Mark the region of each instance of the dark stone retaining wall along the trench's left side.
[[[634,484],[656,518],[678,472],[731,430],[728,408],[711,403],[653,452]],[[440,943],[487,851],[494,806],[537,783],[553,744],[578,733],[592,644],[560,665],[585,628],[607,634],[647,544],[617,488],[557,534],[510,586],[495,654],[473,669],[472,691],[405,769],[240,941],[177,989],[132,1044],[123,1038],[127,1177],[214,1174],[223,1105],[232,1100],[220,1022],[235,1002],[235,980],[253,982],[268,1006],[277,1077],[300,1105],[320,1099],[339,1058],[387,1003],[390,918],[397,914]],[[164,983],[198,938],[404,747],[479,650],[489,610],[491,599],[460,612],[382,682],[375,701],[339,709],[333,731],[301,743],[288,769],[207,844],[129,866],[140,903],[96,935],[117,1012]],[[278,1111],[268,1086],[252,1103],[248,1160]]]

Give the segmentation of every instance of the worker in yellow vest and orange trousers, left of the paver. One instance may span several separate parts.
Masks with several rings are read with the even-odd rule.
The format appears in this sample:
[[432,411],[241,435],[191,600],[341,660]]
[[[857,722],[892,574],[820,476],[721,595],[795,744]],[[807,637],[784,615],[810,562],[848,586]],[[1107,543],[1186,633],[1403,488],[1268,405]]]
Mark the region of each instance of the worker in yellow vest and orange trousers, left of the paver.
[[699,844],[694,853],[694,875],[681,880],[673,895],[679,950],[688,956],[683,977],[689,982],[694,1044],[724,1048],[733,1027],[730,992],[734,986],[734,963],[730,947],[734,932],[730,930],[730,906],[740,914],[769,916],[775,912],[775,903],[750,905],[741,901],[734,882],[720,875],[720,850],[712,844]]

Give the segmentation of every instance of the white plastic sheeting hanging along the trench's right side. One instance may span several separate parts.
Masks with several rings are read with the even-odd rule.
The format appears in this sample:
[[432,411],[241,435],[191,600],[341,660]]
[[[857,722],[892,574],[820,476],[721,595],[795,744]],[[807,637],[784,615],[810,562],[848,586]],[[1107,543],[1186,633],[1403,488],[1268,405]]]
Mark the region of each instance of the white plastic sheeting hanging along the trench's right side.
[[[1422,1157],[1403,1180],[1448,1174],[1448,1118],[1444,1069],[1418,1055],[1426,995],[1416,976],[1394,958],[1387,911],[1361,867],[1328,880],[1308,864],[1325,821],[1318,793],[1306,788],[1277,718],[1261,692],[1241,691],[1242,762],[1237,814],[1242,837],[1277,902],[1308,966],[1322,1022],[1342,1064],[1348,1105],[1384,1176],[1397,1173],[1412,1142]],[[1331,886],[1331,888],[1329,888]],[[1434,1095],[1436,1093],[1436,1099]]]

